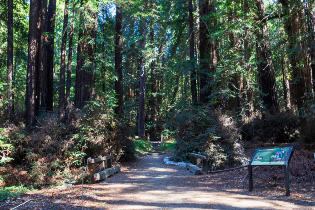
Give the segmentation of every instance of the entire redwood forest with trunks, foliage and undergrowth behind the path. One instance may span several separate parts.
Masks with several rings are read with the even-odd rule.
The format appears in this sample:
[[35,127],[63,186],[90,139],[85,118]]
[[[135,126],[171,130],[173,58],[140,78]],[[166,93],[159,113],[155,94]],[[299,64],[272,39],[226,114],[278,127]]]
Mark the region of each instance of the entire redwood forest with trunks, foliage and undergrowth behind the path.
[[213,168],[246,162],[245,140],[315,147],[314,0],[0,0],[0,11],[3,165],[49,176],[89,156],[130,160],[146,133],[172,136],[181,160],[207,152]]

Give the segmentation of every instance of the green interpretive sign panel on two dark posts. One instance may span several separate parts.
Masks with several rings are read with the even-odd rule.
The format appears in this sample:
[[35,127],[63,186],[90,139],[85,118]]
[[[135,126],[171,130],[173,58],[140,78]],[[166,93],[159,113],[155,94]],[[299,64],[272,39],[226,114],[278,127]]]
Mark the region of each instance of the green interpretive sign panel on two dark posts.
[[293,155],[294,148],[291,147],[277,147],[256,149],[251,161],[248,164],[249,175],[249,191],[253,190],[253,166],[284,166],[285,177],[285,195],[290,195],[289,190],[289,163]]

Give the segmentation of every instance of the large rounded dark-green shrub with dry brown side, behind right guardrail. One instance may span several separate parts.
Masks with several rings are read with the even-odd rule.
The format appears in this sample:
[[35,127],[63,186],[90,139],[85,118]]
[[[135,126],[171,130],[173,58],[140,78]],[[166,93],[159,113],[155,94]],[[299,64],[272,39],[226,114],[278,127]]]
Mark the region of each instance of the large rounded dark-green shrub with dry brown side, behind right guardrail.
[[175,135],[177,155],[189,159],[192,151],[207,153],[211,170],[246,164],[241,135],[232,117],[211,108],[176,113],[171,123]]

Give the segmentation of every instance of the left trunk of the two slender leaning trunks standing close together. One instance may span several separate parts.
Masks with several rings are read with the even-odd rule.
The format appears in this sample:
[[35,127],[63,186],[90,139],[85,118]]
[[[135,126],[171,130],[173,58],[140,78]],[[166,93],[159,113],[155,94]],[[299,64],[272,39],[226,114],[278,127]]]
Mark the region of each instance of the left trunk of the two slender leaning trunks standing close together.
[[63,15],[62,40],[61,40],[61,60],[60,60],[60,80],[58,96],[58,117],[64,121],[65,117],[65,83],[66,83],[66,43],[67,43],[67,26],[68,26],[68,4],[65,0],[65,11]]

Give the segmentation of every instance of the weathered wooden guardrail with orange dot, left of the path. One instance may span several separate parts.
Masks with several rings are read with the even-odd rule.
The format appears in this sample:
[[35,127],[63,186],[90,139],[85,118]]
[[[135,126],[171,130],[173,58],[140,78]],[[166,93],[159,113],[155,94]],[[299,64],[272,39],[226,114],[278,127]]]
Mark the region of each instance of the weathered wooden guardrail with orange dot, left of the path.
[[[120,171],[120,166],[112,167],[112,155],[106,156],[98,156],[97,158],[88,158],[88,167],[89,167],[89,176],[91,179],[91,183],[95,184],[98,183],[102,179],[106,179],[110,175]],[[107,169],[105,169],[105,161],[107,165]],[[99,167],[97,168],[97,163]]]

